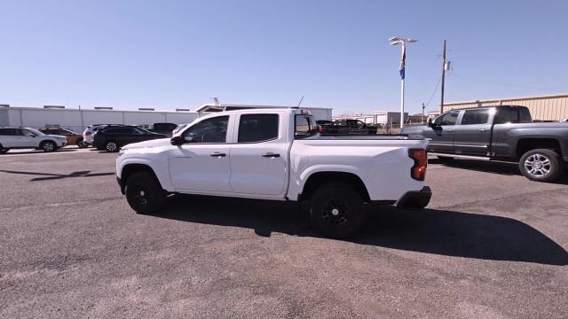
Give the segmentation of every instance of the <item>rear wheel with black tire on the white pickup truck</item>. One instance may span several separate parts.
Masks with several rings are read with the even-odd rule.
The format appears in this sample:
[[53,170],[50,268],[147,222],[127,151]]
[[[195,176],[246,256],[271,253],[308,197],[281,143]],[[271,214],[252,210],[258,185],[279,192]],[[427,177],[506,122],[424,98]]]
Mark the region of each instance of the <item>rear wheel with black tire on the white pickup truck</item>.
[[312,227],[327,237],[351,236],[360,229],[366,215],[363,198],[344,183],[322,185],[311,198]]

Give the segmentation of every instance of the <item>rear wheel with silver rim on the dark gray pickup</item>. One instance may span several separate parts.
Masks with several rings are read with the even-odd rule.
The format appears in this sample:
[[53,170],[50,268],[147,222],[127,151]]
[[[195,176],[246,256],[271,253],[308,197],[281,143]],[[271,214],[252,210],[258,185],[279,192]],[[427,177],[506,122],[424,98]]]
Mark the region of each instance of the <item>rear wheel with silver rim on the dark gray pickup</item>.
[[537,182],[554,182],[563,173],[560,155],[548,149],[525,152],[518,161],[518,167],[526,178]]

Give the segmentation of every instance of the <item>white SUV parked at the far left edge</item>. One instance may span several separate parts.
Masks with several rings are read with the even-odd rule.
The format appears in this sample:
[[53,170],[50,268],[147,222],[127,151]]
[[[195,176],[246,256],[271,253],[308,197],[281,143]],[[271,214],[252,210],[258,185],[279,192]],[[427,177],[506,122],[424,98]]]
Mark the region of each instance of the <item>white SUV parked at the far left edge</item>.
[[67,145],[66,136],[45,135],[36,128],[0,128],[0,153],[10,149],[41,149],[53,152]]

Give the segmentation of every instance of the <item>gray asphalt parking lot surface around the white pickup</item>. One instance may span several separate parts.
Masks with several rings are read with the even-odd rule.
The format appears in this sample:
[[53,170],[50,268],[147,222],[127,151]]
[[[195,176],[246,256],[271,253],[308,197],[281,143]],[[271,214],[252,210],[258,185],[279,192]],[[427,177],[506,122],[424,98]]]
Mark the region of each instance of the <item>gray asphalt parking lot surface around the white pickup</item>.
[[565,178],[432,160],[429,209],[374,207],[339,241],[286,203],[185,196],[135,214],[116,154],[62,151],[0,156],[1,317],[568,316]]

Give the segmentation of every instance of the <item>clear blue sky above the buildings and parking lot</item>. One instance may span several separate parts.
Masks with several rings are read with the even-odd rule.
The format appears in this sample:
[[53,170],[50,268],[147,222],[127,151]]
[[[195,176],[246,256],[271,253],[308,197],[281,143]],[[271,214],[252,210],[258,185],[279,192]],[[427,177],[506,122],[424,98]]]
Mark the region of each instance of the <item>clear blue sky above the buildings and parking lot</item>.
[[[115,109],[222,103],[397,110],[568,92],[566,1],[0,0],[0,104]],[[439,104],[439,89],[427,110]]]

